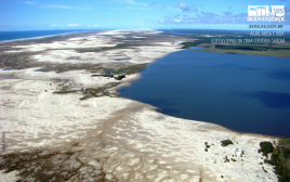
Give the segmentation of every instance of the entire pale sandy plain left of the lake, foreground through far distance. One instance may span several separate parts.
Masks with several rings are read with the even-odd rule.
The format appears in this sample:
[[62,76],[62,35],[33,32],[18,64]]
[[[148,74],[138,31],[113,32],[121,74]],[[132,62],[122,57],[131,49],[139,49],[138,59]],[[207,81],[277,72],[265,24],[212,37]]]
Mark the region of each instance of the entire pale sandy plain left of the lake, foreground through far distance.
[[[41,168],[47,178],[68,181],[277,181],[273,167],[264,164],[265,157],[258,152],[261,141],[277,139],[167,116],[154,106],[116,98],[117,89],[140,74],[122,80],[92,77],[103,74],[104,67],[117,70],[151,63],[179,51],[179,43],[185,41],[155,30],[135,31],[110,30],[67,41],[15,46],[5,52],[31,52],[32,60],[31,67],[0,70],[0,122],[6,134],[1,155],[23,152],[30,157],[30,164],[21,155],[9,158],[22,161],[21,169],[26,165],[21,172],[28,174],[22,178],[34,179]],[[147,39],[136,41],[144,37]],[[120,44],[116,42],[126,44],[122,39],[130,40],[126,41],[130,47],[110,49]],[[106,46],[109,49],[104,49]],[[94,49],[78,51],[81,48]],[[82,63],[92,69],[81,67]],[[79,67],[60,72],[72,64]],[[45,66],[48,72],[36,72]],[[100,88],[96,96],[80,100],[87,94],[83,89]],[[54,93],[62,90],[74,92]],[[234,144],[223,147],[223,140]],[[9,181],[15,181],[15,176],[0,173]]]

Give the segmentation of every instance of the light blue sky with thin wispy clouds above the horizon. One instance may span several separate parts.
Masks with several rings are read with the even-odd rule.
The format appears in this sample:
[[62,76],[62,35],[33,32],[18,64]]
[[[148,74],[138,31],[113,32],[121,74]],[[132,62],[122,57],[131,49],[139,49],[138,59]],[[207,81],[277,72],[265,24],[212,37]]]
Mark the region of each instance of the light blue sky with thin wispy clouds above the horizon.
[[0,30],[249,29],[248,5],[285,5],[290,30],[290,0],[1,0]]

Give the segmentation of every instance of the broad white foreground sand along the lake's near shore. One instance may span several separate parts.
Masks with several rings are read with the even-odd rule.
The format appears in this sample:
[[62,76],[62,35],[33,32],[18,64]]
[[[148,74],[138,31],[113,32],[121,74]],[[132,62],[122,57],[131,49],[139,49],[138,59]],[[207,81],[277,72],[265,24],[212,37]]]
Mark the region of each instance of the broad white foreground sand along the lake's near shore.
[[[134,181],[199,181],[201,177],[209,181],[277,181],[272,166],[263,165],[266,173],[259,165],[265,158],[258,153],[259,143],[271,139],[169,117],[126,99],[102,96],[80,101],[79,93],[52,94],[57,89],[53,81],[0,81],[2,88],[10,88],[1,90],[1,122],[6,131],[8,152],[90,138],[88,131],[93,130],[95,135],[103,135],[95,145],[102,141],[110,143],[105,148],[97,145],[95,155],[100,157],[106,151],[105,172],[119,180],[126,180],[124,174],[133,170]],[[135,107],[140,109],[123,114]],[[118,114],[122,117],[109,125]],[[105,131],[106,125],[109,126]],[[221,146],[226,139],[234,145]],[[93,143],[85,141],[85,147],[93,147]],[[205,142],[210,145],[208,152]],[[225,162],[226,157],[229,162]],[[119,165],[110,165],[113,158]],[[135,169],[137,166],[140,169]]]

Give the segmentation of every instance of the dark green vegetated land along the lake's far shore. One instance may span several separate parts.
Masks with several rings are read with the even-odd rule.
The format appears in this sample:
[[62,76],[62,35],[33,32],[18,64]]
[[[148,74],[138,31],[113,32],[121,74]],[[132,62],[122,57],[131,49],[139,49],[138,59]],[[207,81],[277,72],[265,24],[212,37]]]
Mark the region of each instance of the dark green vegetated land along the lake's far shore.
[[[265,55],[265,56],[279,56],[279,57],[290,57],[290,36],[288,32],[285,32],[284,37],[280,37],[285,40],[284,43],[268,42],[264,44],[258,43],[233,43],[233,44],[215,44],[212,43],[214,39],[253,39],[253,36],[250,36],[247,31],[221,31],[221,34],[208,32],[208,35],[214,37],[202,37],[199,35],[186,36],[192,39],[198,39],[193,42],[182,42],[182,49],[190,49],[193,47],[203,47],[207,50],[198,50],[201,52],[219,52],[219,53],[230,53],[230,54],[249,54],[249,55]],[[202,32],[202,35],[207,35]],[[238,36],[238,37],[237,37]],[[261,36],[259,39],[277,39],[277,36]]]

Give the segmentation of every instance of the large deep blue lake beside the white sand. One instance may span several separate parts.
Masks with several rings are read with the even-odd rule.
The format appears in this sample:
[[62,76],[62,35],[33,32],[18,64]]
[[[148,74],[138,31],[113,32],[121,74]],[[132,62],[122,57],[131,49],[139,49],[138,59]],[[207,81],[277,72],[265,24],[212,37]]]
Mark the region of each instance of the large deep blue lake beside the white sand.
[[119,92],[167,115],[290,136],[290,58],[183,50]]

